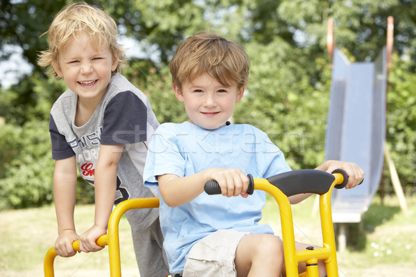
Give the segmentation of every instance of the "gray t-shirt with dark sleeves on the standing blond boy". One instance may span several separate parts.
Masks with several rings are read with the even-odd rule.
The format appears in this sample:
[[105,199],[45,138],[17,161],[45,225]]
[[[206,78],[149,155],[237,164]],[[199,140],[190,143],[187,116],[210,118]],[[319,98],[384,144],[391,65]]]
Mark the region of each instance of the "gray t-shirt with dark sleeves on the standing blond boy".
[[[100,145],[125,145],[117,168],[114,204],[137,197],[157,197],[157,190],[143,184],[147,141],[159,126],[146,95],[116,73],[83,126],[74,123],[77,100],[77,94],[68,89],[53,104],[49,121],[53,159],[75,155],[81,177],[94,185]],[[146,229],[158,214],[155,208],[136,209],[126,216],[130,225]]]

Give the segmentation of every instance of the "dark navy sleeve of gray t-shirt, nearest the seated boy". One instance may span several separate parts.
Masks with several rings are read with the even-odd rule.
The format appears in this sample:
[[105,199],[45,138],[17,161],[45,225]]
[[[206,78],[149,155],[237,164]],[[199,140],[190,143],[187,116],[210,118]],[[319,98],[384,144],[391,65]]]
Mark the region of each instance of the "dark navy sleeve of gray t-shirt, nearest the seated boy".
[[101,144],[123,145],[147,139],[147,108],[131,91],[112,98],[104,111]]

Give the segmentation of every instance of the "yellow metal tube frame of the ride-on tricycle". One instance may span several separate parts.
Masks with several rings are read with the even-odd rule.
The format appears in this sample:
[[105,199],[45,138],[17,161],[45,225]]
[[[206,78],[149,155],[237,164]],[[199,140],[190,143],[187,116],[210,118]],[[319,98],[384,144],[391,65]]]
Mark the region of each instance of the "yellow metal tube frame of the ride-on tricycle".
[[[296,277],[315,277],[319,276],[318,266],[315,265],[318,260],[324,260],[327,267],[328,277],[338,277],[338,265],[336,260],[336,244],[333,234],[333,222],[331,213],[331,194],[333,187],[342,184],[344,179],[340,173],[334,173],[335,180],[331,184],[328,192],[320,195],[320,220],[322,228],[322,248],[312,250],[296,250],[295,234],[293,231],[293,216],[291,203],[288,197],[279,190],[279,188],[269,183],[267,179],[254,178],[254,189],[264,190],[275,198],[279,205],[281,232],[284,245],[284,259],[286,264],[286,276]],[[119,222],[121,216],[128,210],[135,208],[157,208],[159,206],[159,198],[136,198],[121,202],[114,208],[108,222],[107,235],[102,235],[97,240],[97,244],[101,246],[108,245],[108,254],[110,260],[110,276],[121,276],[120,262],[120,244],[119,244]],[[73,242],[73,249],[79,250],[79,241]],[[47,251],[44,258],[44,276],[53,277],[53,262],[58,254],[53,247]],[[299,274],[297,265],[300,262],[306,262],[306,272]]]

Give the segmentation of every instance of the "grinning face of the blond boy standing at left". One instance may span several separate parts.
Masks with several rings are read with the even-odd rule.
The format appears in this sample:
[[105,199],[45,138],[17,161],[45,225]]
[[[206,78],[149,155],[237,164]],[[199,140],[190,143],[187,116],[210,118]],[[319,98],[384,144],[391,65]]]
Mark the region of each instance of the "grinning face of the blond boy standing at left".
[[89,36],[80,34],[63,49],[55,72],[78,94],[78,100],[98,104],[117,65],[110,48],[95,50]]

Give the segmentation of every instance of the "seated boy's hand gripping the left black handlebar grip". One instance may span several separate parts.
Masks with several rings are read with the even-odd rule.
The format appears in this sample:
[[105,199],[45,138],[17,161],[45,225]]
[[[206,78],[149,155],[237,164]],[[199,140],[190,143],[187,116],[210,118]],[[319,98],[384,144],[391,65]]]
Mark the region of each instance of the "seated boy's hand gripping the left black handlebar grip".
[[212,179],[216,180],[221,188],[221,194],[226,197],[248,197],[248,177],[239,169],[213,168]]

